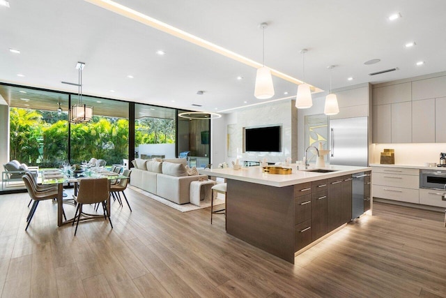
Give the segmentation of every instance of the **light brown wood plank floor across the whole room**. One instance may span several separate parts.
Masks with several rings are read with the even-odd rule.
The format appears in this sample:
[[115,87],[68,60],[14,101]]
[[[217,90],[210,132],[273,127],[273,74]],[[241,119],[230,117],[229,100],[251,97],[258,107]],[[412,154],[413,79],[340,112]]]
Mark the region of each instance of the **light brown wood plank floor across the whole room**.
[[[0,195],[1,297],[446,297],[444,214],[376,203],[295,258],[224,231],[210,210],[180,213],[130,189],[112,222],[56,226],[26,193]],[[74,207],[66,205],[67,216]]]

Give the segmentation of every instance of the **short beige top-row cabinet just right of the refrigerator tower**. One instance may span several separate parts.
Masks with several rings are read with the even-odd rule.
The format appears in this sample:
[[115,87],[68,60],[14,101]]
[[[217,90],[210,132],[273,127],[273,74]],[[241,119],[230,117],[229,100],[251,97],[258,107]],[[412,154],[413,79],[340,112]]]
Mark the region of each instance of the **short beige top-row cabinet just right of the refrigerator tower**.
[[403,103],[412,100],[411,83],[394,84],[373,89],[373,105]]

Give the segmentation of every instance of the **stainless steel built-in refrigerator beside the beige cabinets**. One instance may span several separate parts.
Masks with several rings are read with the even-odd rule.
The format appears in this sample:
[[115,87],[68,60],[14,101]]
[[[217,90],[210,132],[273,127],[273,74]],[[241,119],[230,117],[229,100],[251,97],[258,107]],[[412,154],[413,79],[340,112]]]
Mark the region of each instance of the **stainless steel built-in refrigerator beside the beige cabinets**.
[[369,164],[367,117],[330,120],[330,165]]

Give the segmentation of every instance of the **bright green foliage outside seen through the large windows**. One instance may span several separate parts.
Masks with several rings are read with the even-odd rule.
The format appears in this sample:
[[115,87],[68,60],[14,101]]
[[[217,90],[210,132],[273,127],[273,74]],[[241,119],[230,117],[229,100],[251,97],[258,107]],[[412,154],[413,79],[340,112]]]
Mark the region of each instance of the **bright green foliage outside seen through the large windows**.
[[[135,146],[174,142],[174,120],[146,118],[135,124]],[[67,154],[66,114],[10,108],[10,160],[59,167]],[[128,158],[128,119],[95,116],[89,123],[71,125],[70,163],[92,157],[104,159],[107,165]]]

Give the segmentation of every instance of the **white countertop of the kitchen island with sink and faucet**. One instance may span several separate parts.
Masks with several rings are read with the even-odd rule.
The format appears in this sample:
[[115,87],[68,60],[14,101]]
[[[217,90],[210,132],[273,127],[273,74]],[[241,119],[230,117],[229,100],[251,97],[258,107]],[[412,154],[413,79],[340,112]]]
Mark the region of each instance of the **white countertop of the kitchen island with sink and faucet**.
[[233,170],[231,167],[224,169],[203,169],[199,170],[199,173],[208,176],[283,187],[371,170],[371,167],[352,167],[347,165],[330,165],[328,167],[323,167],[323,169],[336,170],[328,173],[298,171],[296,170],[295,164],[291,165],[291,168],[293,169],[291,174],[263,173],[262,168],[259,166],[242,167],[240,170]]

